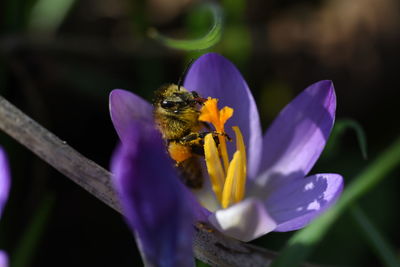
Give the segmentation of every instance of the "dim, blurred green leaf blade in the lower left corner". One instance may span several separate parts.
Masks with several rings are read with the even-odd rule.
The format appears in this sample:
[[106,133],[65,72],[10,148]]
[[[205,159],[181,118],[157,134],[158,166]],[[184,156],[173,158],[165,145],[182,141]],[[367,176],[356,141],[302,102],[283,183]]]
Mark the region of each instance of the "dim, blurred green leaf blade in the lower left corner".
[[42,200],[32,221],[23,233],[21,240],[19,240],[15,252],[12,254],[11,266],[25,267],[32,265],[32,258],[45,231],[53,206],[53,196],[48,195]]

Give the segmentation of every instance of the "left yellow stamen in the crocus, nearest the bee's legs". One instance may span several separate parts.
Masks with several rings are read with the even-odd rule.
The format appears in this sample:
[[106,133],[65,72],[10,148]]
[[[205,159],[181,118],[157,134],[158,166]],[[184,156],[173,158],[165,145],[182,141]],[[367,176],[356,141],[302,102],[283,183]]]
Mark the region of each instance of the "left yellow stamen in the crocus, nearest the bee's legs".
[[225,183],[225,174],[224,170],[222,169],[218,149],[215,145],[212,134],[207,134],[204,139],[204,155],[212,189],[217,196],[218,201],[221,203],[222,189]]

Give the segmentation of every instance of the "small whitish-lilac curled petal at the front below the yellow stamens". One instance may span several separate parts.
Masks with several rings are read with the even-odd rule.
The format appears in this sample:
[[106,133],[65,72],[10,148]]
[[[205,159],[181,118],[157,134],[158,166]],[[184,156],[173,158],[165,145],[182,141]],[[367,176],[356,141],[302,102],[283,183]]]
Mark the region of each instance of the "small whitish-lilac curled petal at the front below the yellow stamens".
[[245,242],[276,228],[276,223],[265,209],[265,205],[254,198],[218,210],[208,220],[222,233]]

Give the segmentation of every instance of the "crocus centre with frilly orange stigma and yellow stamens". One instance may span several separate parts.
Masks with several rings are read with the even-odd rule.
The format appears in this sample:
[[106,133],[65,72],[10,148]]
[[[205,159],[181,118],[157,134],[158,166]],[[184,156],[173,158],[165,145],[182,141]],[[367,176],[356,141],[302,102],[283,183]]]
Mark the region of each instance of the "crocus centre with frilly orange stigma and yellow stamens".
[[[239,127],[234,126],[236,152],[229,162],[224,125],[232,117],[233,109],[224,107],[219,110],[217,103],[217,99],[209,97],[200,110],[199,120],[209,122],[215,128],[215,132],[208,134],[204,139],[205,161],[217,200],[222,208],[227,208],[244,198],[247,164],[246,148],[242,132]],[[217,137],[218,145],[215,142]],[[221,158],[224,167],[222,167]]]

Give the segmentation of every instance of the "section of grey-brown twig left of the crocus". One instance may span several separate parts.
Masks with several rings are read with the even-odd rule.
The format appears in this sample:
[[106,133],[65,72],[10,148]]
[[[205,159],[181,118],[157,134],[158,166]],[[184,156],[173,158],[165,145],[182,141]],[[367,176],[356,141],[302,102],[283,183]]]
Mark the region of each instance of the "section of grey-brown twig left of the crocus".
[[89,193],[120,211],[110,173],[0,96],[0,129]]

